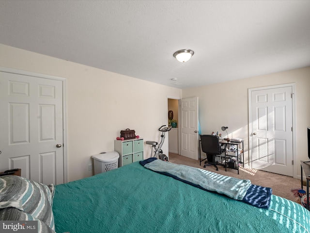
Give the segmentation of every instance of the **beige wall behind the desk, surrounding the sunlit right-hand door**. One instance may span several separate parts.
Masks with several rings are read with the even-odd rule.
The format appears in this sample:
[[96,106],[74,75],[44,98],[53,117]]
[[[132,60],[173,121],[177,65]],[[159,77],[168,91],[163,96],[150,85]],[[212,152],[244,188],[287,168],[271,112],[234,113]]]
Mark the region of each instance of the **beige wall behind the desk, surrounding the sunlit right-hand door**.
[[199,97],[199,119],[203,134],[223,133],[228,126],[230,137],[245,140],[248,156],[248,89],[295,83],[295,163],[294,176],[300,177],[300,160],[308,159],[307,127],[310,126],[310,67],[233,82],[217,83],[183,90],[183,98]]

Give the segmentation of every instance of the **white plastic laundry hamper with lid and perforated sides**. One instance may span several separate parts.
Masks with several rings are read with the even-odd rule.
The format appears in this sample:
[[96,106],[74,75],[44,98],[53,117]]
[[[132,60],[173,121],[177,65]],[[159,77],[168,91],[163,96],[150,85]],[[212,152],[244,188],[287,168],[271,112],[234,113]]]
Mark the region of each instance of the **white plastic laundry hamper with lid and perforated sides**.
[[102,154],[93,155],[93,168],[95,175],[118,167],[119,153],[110,151]]

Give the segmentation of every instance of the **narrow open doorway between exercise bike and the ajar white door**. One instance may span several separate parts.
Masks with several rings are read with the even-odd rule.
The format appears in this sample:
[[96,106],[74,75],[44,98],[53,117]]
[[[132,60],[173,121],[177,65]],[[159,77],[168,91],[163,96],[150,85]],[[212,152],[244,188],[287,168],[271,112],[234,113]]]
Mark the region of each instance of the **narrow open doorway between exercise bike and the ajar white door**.
[[179,154],[179,100],[168,98],[167,112],[169,127],[171,127],[171,121],[176,121],[176,127],[168,132],[169,153]]

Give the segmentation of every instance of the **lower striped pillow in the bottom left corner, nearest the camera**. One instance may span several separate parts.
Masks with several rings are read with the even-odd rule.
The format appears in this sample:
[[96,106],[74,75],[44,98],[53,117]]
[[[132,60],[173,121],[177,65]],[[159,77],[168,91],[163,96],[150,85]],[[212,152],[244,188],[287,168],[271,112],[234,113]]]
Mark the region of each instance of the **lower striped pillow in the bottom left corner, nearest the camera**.
[[0,209],[0,220],[9,221],[38,221],[38,233],[55,233],[41,220],[16,208]]

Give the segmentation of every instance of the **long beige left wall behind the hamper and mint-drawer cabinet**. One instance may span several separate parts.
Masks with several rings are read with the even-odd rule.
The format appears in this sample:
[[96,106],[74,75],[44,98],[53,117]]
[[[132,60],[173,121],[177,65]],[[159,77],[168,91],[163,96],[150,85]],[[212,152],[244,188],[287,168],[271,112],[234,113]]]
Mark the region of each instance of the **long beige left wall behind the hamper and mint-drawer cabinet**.
[[[182,97],[177,88],[1,44],[0,66],[66,78],[68,181],[91,176],[91,156],[114,150],[123,129],[159,140],[158,128],[168,119],[167,96]],[[150,149],[144,145],[145,157]],[[163,151],[168,152],[168,143]]]

